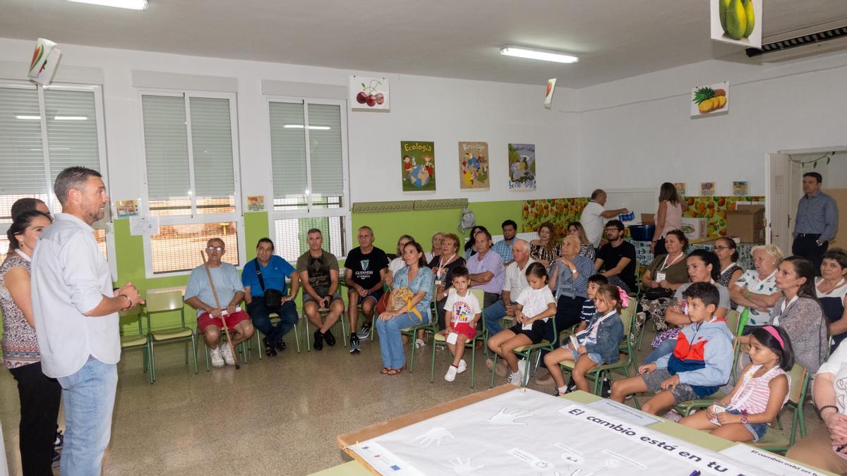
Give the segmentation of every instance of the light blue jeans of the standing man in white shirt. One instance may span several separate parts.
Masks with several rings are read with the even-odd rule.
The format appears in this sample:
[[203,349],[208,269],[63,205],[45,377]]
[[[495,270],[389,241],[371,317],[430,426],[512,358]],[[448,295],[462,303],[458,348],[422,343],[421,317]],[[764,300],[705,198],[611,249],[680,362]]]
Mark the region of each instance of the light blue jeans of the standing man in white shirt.
[[91,359],[76,374],[57,380],[64,404],[62,475],[100,474],[111,435],[118,366]]

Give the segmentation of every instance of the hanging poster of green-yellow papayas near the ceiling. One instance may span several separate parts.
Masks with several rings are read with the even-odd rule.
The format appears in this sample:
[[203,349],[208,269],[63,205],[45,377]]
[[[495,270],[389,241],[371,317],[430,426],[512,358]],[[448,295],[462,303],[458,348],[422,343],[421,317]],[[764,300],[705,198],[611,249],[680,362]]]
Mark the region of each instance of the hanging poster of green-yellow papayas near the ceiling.
[[711,39],[761,49],[761,0],[711,0]]

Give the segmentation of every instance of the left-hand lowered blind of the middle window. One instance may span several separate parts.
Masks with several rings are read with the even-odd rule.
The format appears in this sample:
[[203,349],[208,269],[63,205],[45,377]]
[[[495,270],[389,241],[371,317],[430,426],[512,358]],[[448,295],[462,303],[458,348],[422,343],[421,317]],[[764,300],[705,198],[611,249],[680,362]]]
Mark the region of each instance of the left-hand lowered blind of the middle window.
[[188,136],[185,99],[178,96],[141,96],[144,150],[147,156],[147,192],[150,200],[187,196]]

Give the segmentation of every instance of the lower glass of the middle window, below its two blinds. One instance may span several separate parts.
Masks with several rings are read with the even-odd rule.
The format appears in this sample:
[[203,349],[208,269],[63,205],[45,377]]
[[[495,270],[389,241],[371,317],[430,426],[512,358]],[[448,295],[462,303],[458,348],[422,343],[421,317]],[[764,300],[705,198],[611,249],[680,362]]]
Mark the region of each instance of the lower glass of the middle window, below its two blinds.
[[238,266],[238,227],[235,222],[167,224],[150,238],[153,273],[189,271],[203,263],[206,242],[220,238],[226,245],[223,260]]

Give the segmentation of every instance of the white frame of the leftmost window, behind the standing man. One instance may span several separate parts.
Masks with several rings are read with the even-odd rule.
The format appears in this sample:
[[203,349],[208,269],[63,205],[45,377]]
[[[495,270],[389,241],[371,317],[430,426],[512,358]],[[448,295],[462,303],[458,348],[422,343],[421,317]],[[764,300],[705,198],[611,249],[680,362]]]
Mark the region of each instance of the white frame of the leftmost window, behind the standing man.
[[[41,117],[39,122],[41,124],[42,133],[42,158],[44,159],[44,181],[46,184],[45,196],[47,197],[47,208],[50,209],[50,213],[53,213],[54,216],[57,213],[57,211],[53,209],[53,202],[55,201],[56,194],[53,192],[53,180],[51,178],[50,173],[50,141],[47,135],[47,110],[44,102],[44,90],[51,89],[54,91],[90,91],[93,93],[95,125],[97,127],[97,155],[100,162],[99,172],[100,174],[102,174],[103,183],[105,183],[106,191],[109,194],[108,219],[102,222],[102,228],[95,228],[95,230],[105,230],[106,232],[106,253],[108,255],[108,257],[106,258],[106,262],[108,263],[109,274],[111,274],[112,281],[117,281],[118,260],[116,257],[116,249],[114,244],[113,200],[108,180],[109,174],[108,157],[106,152],[106,116],[105,109],[103,108],[102,86],[95,84],[69,83],[53,83],[49,86],[41,86],[33,85],[29,81],[0,79],[0,87],[27,90],[35,89],[38,94],[38,113]],[[9,225],[5,223],[0,224],[0,233],[3,233],[3,235],[5,235],[6,231],[8,230],[8,226]]]

